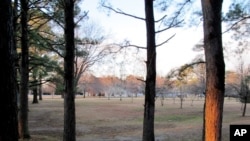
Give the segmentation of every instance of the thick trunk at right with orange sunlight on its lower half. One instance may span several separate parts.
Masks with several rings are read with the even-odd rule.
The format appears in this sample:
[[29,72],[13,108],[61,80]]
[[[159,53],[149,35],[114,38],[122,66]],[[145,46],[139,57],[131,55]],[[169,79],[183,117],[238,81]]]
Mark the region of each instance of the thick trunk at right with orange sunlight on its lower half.
[[201,0],[206,58],[205,141],[220,141],[225,91],[221,35],[222,0]]

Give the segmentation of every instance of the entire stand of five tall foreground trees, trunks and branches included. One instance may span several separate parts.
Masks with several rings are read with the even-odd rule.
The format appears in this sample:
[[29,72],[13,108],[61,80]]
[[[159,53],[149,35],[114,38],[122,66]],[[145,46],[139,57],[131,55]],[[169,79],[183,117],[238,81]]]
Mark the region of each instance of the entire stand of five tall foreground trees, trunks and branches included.
[[[29,138],[28,129],[28,90],[33,89],[37,103],[37,92],[41,95],[41,84],[47,81],[56,83],[64,95],[64,134],[65,141],[76,140],[74,95],[80,76],[95,62],[111,53],[109,47],[96,49],[103,37],[75,38],[78,23],[87,17],[88,12],[81,12],[79,0],[36,1],[2,0],[0,2],[0,59],[2,66],[0,88],[0,141]],[[126,44],[123,47],[136,47],[146,50],[145,103],[142,140],[153,141],[154,113],[156,98],[156,47],[167,43],[174,35],[162,43],[156,42],[156,35],[170,28],[183,24],[185,7],[191,3],[184,0],[176,5],[176,11],[155,20],[154,6],[162,12],[169,12],[168,1],[145,0],[145,17],[138,17],[107,6],[104,8],[116,13],[143,20],[146,24],[146,46]],[[249,30],[249,11],[246,3],[233,4],[222,17],[222,0],[201,0],[204,29],[204,52],[206,77],[200,77],[205,84],[204,134],[203,140],[221,140],[223,104],[225,93],[225,63],[222,47],[222,20],[233,22],[230,29],[235,31],[235,38]],[[156,30],[156,25],[164,24]],[[56,25],[56,29],[52,26]],[[88,27],[89,30],[93,30]],[[86,34],[87,35],[87,34]],[[242,34],[240,35],[242,36]],[[246,45],[245,41],[240,41]],[[112,46],[114,47],[114,46]],[[93,50],[94,48],[94,50]],[[91,51],[95,53],[91,53]],[[202,61],[201,61],[202,62]],[[185,69],[184,69],[185,70]],[[244,74],[244,75],[243,75]],[[249,93],[249,75],[242,71],[240,94],[247,101]],[[186,83],[185,73],[179,82]],[[205,80],[205,81],[204,81]],[[204,83],[205,82],[205,83]],[[18,108],[19,107],[19,108]],[[246,105],[244,106],[246,107]],[[243,113],[244,114],[244,113]],[[19,131],[19,132],[18,132]]]

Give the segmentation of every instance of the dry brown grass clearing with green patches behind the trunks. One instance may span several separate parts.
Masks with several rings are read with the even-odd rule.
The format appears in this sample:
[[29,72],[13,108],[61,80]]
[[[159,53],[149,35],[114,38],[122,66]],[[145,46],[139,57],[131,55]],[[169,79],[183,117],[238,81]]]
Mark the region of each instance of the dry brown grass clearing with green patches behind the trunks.
[[[32,98],[30,97],[30,100]],[[61,141],[63,99],[45,96],[39,104],[29,102],[30,141]],[[76,98],[76,138],[78,141],[140,141],[143,98]],[[183,108],[176,98],[156,100],[155,138],[158,141],[200,141],[204,99],[185,99]],[[250,124],[250,110],[241,117],[241,104],[225,98],[223,141],[229,141],[230,124]]]

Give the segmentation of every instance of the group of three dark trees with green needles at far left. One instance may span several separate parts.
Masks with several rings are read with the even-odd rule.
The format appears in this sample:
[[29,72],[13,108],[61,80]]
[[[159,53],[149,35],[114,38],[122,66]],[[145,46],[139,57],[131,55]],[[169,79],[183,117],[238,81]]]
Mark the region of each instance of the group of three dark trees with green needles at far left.
[[[3,101],[1,101],[3,105],[1,112],[6,113],[6,118],[1,122],[3,132],[0,140],[30,137],[28,92],[32,89],[33,103],[38,103],[38,96],[42,100],[41,86],[47,82],[55,83],[65,96],[64,138],[74,140],[73,99],[79,77],[110,52],[108,47],[100,48],[99,45],[104,40],[101,34],[92,36],[90,32],[86,32],[87,34],[82,37],[75,37],[74,31],[79,27],[79,22],[87,19],[87,12],[82,12],[78,7],[79,2],[74,0],[1,1],[1,25],[3,26],[1,60],[4,67],[1,73],[3,78],[1,79],[3,87],[1,88]],[[53,28],[54,26],[56,28]],[[85,28],[92,30],[92,33],[99,30],[95,29],[99,28],[97,26]],[[12,121],[6,122],[10,120]],[[8,130],[5,130],[7,128]]]

